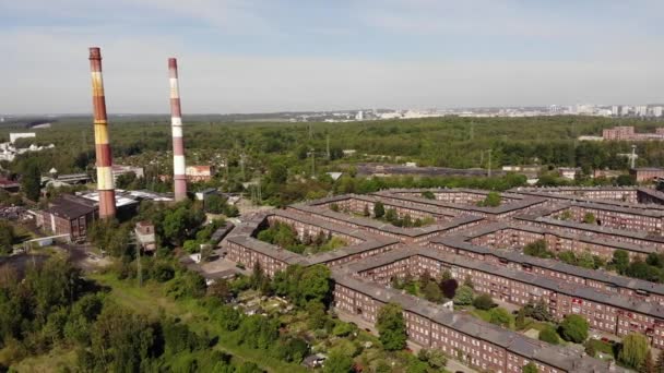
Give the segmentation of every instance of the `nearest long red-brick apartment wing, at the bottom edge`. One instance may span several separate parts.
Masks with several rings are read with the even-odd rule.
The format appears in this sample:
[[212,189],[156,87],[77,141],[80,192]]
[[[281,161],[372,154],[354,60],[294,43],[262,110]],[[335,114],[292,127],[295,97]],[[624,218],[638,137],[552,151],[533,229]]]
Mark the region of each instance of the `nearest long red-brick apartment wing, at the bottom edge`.
[[625,372],[583,357],[581,353],[530,339],[446,306],[429,303],[393,289],[377,286],[347,272],[333,272],[333,305],[342,313],[376,323],[378,311],[388,302],[404,309],[408,339],[425,348],[438,349],[486,372],[520,373],[533,362],[538,372]]

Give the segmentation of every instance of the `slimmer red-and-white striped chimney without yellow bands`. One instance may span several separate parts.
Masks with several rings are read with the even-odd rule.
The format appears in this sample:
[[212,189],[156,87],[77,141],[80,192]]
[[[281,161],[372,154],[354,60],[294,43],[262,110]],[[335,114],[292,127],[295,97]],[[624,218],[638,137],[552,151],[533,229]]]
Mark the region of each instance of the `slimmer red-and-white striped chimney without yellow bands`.
[[180,111],[180,88],[178,84],[178,61],[168,59],[170,81],[170,128],[173,130],[173,173],[175,201],[187,198],[187,176],[185,175],[185,142],[182,141],[182,112]]

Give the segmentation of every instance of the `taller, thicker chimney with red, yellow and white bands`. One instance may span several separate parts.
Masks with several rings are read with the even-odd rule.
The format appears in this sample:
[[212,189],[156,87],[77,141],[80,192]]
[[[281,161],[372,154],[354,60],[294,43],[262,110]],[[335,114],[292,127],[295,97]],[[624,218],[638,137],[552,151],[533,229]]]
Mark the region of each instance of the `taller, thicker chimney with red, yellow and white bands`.
[[116,216],[116,191],[112,180],[112,157],[108,143],[108,121],[106,119],[106,98],[102,79],[102,52],[90,48],[90,70],[92,73],[92,106],[95,125],[95,153],[97,157],[97,191],[99,193],[99,218]]

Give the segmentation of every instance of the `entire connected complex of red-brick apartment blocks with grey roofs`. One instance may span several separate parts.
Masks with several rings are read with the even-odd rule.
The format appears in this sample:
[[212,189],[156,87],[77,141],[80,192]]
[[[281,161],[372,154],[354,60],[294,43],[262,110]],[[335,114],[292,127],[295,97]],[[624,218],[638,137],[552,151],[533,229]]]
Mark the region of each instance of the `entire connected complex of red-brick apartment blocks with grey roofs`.
[[[435,200],[424,198],[422,193],[426,191]],[[636,229],[650,224],[648,219],[664,209],[640,212],[643,206],[635,204],[638,193],[625,189],[567,195],[512,191],[501,194],[502,204],[498,207],[476,206],[487,192],[470,190],[388,190],[368,196],[342,195],[256,215],[227,238],[224,248],[227,258],[249,267],[258,262],[270,275],[289,264],[330,265],[333,305],[341,314],[375,323],[383,304],[400,303],[413,342],[440,349],[479,370],[520,372],[525,363],[534,362],[540,372],[622,371],[571,349],[456,313],[448,301],[440,305],[404,294],[389,284],[395,276],[417,276],[424,270],[436,276],[450,270],[459,279],[470,276],[476,290],[496,299],[514,304],[544,299],[556,317],[581,314],[593,328],[618,336],[642,333],[653,346],[664,348],[662,286],[520,253],[520,248],[540,239],[547,242],[549,250],[590,251],[603,257],[610,257],[618,249],[632,257],[659,252],[664,245],[662,237],[655,231]],[[427,227],[402,228],[358,216],[365,206],[371,212],[377,201],[400,214],[431,216],[438,221]],[[342,210],[332,210],[332,204]],[[554,218],[552,214],[565,208],[578,209],[571,212],[573,219],[573,214],[588,212],[582,208],[595,208],[600,219],[613,222],[597,226]],[[612,214],[620,217],[626,212],[631,213],[627,218],[637,222],[612,220],[616,219]],[[349,244],[322,255],[294,254],[254,238],[261,227],[274,221],[290,225],[298,234],[321,229],[342,234]]]

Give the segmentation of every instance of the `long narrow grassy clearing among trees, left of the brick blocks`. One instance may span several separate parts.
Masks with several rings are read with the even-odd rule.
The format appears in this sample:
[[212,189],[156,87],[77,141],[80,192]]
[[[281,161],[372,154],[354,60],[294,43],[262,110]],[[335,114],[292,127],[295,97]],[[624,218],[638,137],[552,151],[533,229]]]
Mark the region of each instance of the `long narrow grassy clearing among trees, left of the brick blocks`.
[[238,346],[229,335],[211,320],[208,311],[195,300],[174,300],[164,294],[164,286],[149,282],[139,288],[130,281],[118,280],[112,275],[93,275],[92,279],[111,289],[109,300],[150,316],[165,314],[183,321],[193,332],[211,337],[218,337],[215,346],[226,353],[233,354],[238,361],[251,361],[268,372],[306,372],[304,366],[287,363],[266,356],[263,350],[248,349]]

